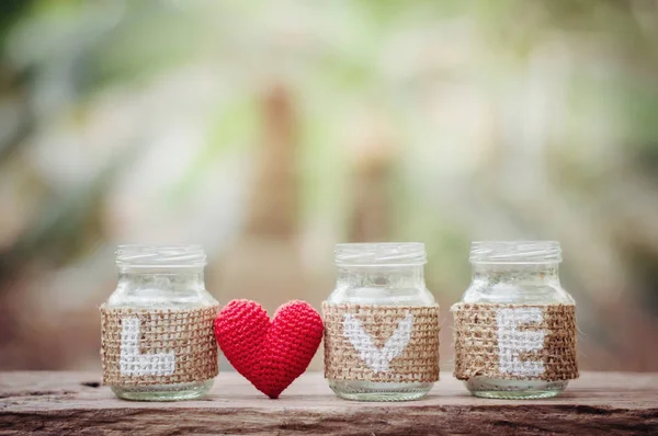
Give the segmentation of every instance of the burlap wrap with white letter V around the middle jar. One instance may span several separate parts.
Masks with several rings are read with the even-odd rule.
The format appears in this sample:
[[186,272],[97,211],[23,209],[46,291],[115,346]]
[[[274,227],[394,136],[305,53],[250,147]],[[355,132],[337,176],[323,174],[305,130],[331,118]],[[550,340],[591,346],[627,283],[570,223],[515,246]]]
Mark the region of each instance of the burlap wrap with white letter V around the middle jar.
[[325,377],[439,380],[439,306],[322,303]]

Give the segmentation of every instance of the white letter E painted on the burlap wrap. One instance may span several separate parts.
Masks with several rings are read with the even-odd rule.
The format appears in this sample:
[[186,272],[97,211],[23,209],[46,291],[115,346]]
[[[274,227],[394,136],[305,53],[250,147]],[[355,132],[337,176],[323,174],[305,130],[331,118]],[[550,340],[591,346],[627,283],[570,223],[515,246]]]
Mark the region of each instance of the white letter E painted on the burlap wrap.
[[546,331],[519,331],[521,324],[542,323],[541,308],[514,308],[498,310],[498,366],[500,372],[519,377],[536,377],[544,374],[542,360],[520,360],[519,353],[532,353],[544,348]]

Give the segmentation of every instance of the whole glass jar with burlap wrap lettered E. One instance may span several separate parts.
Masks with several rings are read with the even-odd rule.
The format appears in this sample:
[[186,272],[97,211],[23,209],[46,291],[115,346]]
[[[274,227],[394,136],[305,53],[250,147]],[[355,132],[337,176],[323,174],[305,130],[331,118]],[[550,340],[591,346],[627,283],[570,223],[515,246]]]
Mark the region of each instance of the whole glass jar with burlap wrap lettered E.
[[452,307],[455,377],[476,397],[555,397],[578,378],[576,303],[554,241],[474,242],[473,282]]

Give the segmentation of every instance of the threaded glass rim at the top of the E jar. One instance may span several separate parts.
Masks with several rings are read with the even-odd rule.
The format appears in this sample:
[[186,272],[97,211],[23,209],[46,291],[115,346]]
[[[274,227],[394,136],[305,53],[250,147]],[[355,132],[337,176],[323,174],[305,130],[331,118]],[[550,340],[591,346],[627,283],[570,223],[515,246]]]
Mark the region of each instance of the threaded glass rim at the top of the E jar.
[[470,245],[474,264],[549,264],[561,262],[557,241],[476,241]]

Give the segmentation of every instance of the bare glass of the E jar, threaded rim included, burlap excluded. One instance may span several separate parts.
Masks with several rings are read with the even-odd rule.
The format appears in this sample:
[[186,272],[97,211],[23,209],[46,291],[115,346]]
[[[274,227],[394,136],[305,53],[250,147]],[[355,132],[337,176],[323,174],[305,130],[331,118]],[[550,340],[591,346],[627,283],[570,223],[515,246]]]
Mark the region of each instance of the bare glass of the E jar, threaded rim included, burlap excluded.
[[[473,282],[463,302],[575,305],[559,283],[561,249],[556,241],[473,242]],[[538,399],[559,394],[568,380],[507,380],[472,377],[466,388],[476,397]]]

